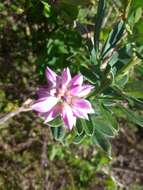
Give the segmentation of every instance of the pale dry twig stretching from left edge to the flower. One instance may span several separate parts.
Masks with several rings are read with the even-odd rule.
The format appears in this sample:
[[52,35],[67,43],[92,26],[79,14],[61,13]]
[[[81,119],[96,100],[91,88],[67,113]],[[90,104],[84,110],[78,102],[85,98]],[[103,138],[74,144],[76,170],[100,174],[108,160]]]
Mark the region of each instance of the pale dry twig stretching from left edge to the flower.
[[30,104],[31,104],[32,100],[28,99],[24,102],[24,104],[18,108],[16,111],[10,112],[4,116],[2,116],[0,118],[0,125],[4,124],[5,122],[7,122],[9,119],[11,119],[12,117],[19,115],[21,112],[27,112],[30,111]]

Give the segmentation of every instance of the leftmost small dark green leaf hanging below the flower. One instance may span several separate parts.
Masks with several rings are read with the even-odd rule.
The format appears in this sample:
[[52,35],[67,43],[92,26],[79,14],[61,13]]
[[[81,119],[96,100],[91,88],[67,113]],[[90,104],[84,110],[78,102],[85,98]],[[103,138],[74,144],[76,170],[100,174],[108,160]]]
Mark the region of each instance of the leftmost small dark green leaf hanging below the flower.
[[62,140],[64,138],[64,127],[51,127],[52,135],[56,140]]

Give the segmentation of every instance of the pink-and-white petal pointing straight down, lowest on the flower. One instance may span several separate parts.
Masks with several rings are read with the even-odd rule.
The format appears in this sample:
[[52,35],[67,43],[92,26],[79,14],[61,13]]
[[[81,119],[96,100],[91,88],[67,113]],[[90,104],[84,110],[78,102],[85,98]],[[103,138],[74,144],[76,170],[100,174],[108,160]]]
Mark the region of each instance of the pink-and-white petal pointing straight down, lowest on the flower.
[[72,109],[69,105],[63,106],[61,117],[65,125],[71,130],[76,123],[76,117],[73,115]]

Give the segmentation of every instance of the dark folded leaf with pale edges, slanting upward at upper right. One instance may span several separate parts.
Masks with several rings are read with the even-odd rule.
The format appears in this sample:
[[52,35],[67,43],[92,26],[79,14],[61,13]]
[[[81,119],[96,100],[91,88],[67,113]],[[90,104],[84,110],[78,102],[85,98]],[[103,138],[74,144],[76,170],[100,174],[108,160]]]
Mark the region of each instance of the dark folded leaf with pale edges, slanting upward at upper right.
[[118,22],[113,30],[110,32],[107,41],[102,50],[102,57],[105,58],[108,52],[117,44],[117,42],[121,39],[123,31],[124,31],[124,21],[121,20]]

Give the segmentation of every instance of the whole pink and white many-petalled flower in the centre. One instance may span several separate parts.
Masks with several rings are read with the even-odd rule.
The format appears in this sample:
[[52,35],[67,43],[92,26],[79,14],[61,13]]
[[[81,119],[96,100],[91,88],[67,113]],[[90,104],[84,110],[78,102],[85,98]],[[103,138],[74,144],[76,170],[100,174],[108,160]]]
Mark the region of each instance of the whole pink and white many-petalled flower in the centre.
[[76,124],[76,118],[88,119],[89,113],[94,113],[86,97],[93,86],[83,85],[83,76],[71,77],[68,68],[57,75],[50,68],[45,72],[48,84],[37,91],[39,99],[32,104],[32,109],[43,116],[45,123],[60,115],[65,125],[71,130]]

